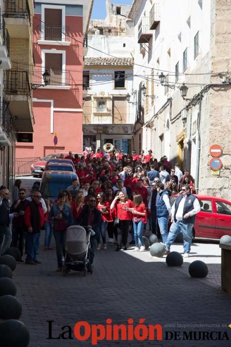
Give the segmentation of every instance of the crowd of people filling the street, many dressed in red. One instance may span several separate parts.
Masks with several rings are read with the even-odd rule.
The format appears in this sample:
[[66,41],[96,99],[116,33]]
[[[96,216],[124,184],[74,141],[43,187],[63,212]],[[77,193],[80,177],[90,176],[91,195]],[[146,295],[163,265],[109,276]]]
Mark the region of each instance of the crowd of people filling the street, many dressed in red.
[[[139,155],[132,151],[128,155],[122,150],[107,153],[98,148],[94,153],[86,148],[83,156],[73,156],[69,152],[66,158],[73,161],[78,179],[57,192],[54,202],[43,199],[39,182],[35,182],[30,196],[26,197],[26,190],[17,179],[12,187],[11,203],[9,191],[0,187],[1,254],[11,244],[20,250],[22,262],[25,248],[25,263],[40,264],[37,254],[44,226],[44,250],[52,250],[53,235],[56,271],[62,271],[66,230],[73,224],[94,231],[91,235],[91,263],[94,250],[106,249],[107,242],[116,243],[115,251],[127,250],[129,232],[134,251],[144,251],[144,231],[155,233],[164,244],[167,242],[170,196],[180,194],[184,197],[185,191],[187,196],[195,194],[194,179],[189,171],[185,169],[183,172],[178,163],[172,166],[166,156],[158,161],[151,150],[146,155],[144,151]],[[195,211],[192,213],[198,212]],[[167,243],[166,252],[170,243]],[[189,246],[186,253],[188,249],[190,251]]]

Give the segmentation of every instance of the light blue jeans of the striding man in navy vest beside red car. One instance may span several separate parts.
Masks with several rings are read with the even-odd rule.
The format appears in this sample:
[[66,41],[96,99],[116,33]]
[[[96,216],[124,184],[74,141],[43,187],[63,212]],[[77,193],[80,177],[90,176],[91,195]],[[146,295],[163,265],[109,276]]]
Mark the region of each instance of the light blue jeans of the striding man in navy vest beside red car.
[[168,249],[170,250],[171,244],[173,244],[179,232],[182,231],[184,237],[184,253],[189,253],[192,243],[192,228],[193,223],[185,224],[182,221],[173,222],[168,234],[168,238],[165,242],[165,244],[168,246]]

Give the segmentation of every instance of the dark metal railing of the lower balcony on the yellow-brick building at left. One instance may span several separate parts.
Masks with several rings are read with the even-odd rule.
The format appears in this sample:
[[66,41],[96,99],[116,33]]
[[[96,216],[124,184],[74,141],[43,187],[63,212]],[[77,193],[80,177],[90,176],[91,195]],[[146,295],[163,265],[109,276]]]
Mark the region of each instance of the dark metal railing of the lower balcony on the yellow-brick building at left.
[[31,97],[31,86],[28,72],[14,70],[5,71],[4,92],[6,94],[28,95]]

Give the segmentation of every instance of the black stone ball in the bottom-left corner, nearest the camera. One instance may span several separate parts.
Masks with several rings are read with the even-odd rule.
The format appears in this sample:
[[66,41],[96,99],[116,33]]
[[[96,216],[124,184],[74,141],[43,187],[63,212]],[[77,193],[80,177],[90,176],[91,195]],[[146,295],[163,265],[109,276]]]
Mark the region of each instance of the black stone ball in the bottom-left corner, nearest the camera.
[[16,319],[0,323],[0,337],[2,347],[27,347],[30,342],[27,327]]

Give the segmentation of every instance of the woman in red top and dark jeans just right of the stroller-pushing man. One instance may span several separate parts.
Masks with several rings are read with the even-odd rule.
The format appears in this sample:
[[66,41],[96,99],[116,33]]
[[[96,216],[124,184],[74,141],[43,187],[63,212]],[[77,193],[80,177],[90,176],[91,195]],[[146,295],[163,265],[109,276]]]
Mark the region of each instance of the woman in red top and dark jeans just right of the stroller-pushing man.
[[112,222],[110,204],[106,201],[104,193],[97,194],[98,203],[96,205],[97,210],[101,213],[101,223],[99,227],[99,232],[96,234],[97,247],[98,251],[101,248],[100,244],[100,235],[103,241],[103,249],[107,249],[106,245],[106,230],[108,222]]

